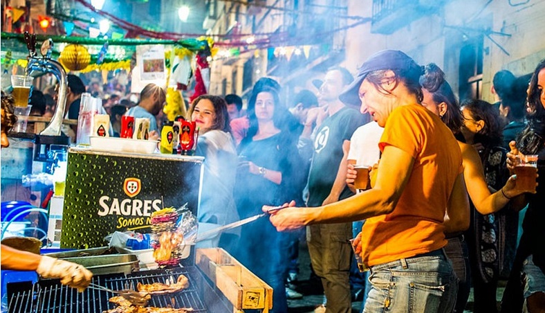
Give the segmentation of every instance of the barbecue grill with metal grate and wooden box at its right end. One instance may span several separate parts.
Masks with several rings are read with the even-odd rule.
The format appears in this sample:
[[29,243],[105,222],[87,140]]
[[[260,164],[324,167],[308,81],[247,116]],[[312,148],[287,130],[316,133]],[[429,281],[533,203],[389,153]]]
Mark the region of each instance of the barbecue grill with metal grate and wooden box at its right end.
[[[183,274],[190,280],[186,289],[174,294],[151,296],[148,306],[192,308],[194,312],[234,312],[272,307],[272,289],[222,249],[197,249],[197,266],[135,271],[130,274],[93,276],[93,283],[113,290],[135,289],[138,283],[167,283]],[[194,260],[192,260],[194,262]],[[193,263],[194,264],[194,263]],[[55,279],[37,283],[8,283],[10,313],[100,313],[116,307],[111,292],[76,289]]]

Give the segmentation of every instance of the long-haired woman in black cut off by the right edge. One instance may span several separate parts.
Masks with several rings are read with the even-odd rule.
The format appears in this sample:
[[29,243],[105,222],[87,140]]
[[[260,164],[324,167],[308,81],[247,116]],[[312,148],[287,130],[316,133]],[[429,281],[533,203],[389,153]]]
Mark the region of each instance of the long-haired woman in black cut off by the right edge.
[[[528,126],[511,141],[507,154],[510,170],[517,159],[537,155],[537,168],[545,171],[545,60],[537,64],[528,87]],[[517,149],[518,148],[518,149]],[[542,312],[545,307],[545,175],[537,178],[537,193],[527,195],[528,210],[522,236],[501,303],[501,312]],[[523,281],[521,281],[521,272]],[[541,310],[541,311],[540,311]]]

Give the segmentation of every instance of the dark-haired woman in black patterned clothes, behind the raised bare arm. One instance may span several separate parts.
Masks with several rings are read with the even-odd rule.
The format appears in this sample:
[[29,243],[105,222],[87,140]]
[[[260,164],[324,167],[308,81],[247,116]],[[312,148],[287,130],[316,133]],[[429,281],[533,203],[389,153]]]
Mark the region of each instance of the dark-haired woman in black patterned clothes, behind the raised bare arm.
[[[490,103],[467,100],[462,105],[461,134],[477,148],[488,188],[501,190],[509,178],[507,151],[503,147],[501,119]],[[517,221],[511,214],[483,215],[472,205],[468,246],[475,294],[474,312],[497,312],[496,289],[504,269],[504,247],[508,234],[515,237]],[[510,216],[513,215],[513,216]]]

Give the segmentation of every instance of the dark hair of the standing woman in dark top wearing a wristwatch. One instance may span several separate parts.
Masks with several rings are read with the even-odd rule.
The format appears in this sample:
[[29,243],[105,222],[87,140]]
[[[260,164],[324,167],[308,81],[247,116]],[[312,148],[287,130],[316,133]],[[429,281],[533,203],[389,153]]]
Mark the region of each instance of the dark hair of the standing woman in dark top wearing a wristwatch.
[[286,129],[286,118],[287,114],[289,113],[288,109],[286,109],[286,107],[284,107],[284,105],[282,105],[280,102],[280,96],[277,89],[270,86],[263,86],[257,89],[254,88],[252,96],[250,97],[250,100],[248,100],[248,118],[250,119],[250,128],[248,128],[246,138],[252,138],[255,136],[255,134],[257,134],[257,130],[259,129],[257,116],[255,116],[255,101],[257,100],[257,95],[261,92],[270,93],[273,96],[273,100],[275,100],[275,111],[273,113],[273,123],[275,124],[275,127],[281,130]]

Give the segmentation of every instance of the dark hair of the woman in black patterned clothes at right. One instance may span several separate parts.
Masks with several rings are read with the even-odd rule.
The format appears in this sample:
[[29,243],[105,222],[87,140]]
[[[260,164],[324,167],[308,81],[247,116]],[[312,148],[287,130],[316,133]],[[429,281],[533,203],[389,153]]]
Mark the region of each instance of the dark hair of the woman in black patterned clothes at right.
[[499,118],[499,112],[493,105],[483,100],[470,99],[465,100],[462,107],[470,111],[473,120],[484,121],[484,127],[475,134],[474,142],[482,143],[485,147],[503,144],[501,119]]

